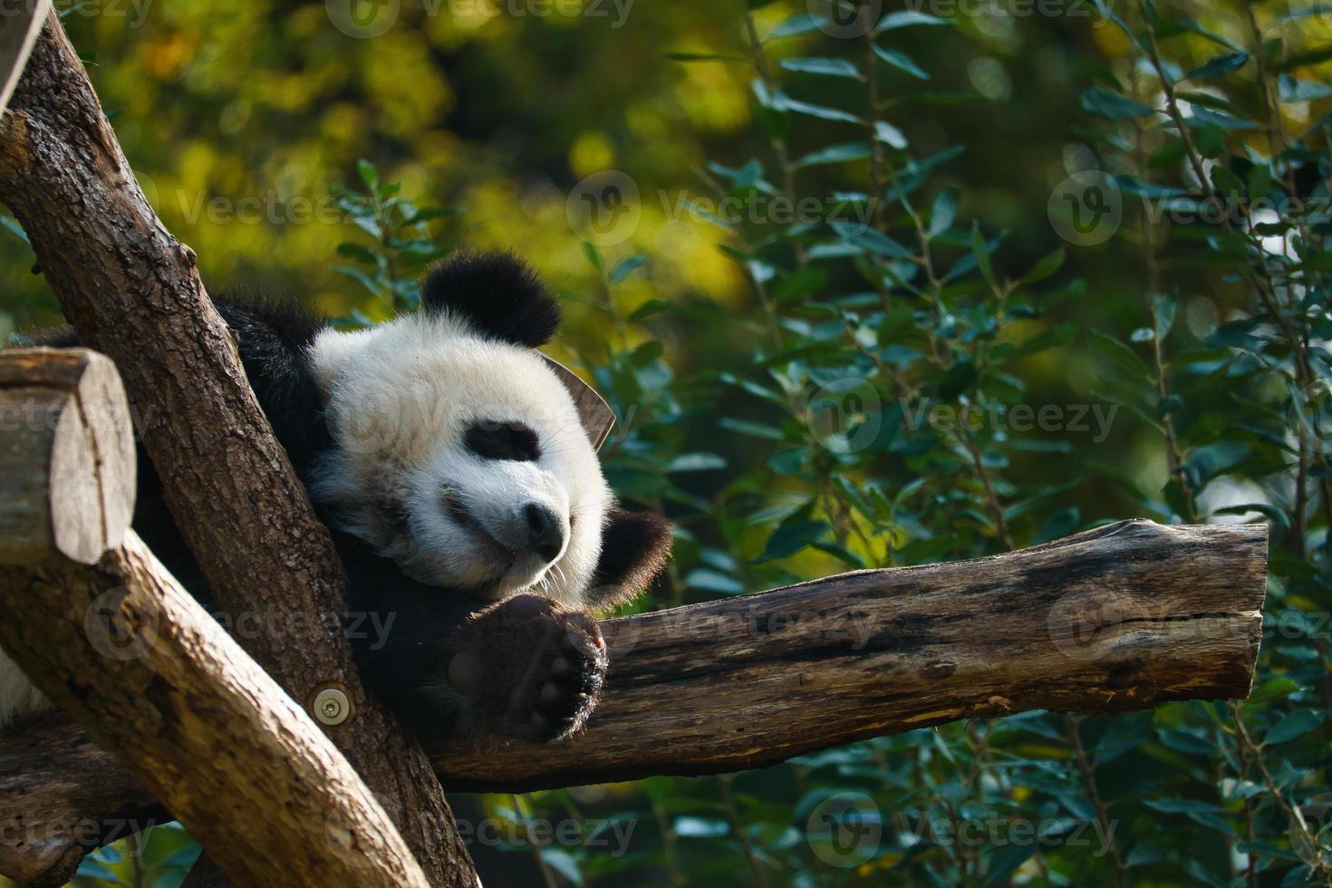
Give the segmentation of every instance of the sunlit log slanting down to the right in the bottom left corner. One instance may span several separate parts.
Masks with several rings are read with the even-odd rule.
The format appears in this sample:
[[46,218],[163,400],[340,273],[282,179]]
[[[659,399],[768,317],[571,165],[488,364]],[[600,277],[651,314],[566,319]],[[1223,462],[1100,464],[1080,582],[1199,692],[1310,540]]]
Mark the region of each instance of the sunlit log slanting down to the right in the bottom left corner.
[[[0,566],[0,646],[234,884],[428,884],[333,742],[133,531],[92,567]],[[89,760],[107,770],[104,756]],[[61,843],[13,801],[0,828],[7,875],[59,884],[101,837]],[[33,853],[15,853],[29,837]]]

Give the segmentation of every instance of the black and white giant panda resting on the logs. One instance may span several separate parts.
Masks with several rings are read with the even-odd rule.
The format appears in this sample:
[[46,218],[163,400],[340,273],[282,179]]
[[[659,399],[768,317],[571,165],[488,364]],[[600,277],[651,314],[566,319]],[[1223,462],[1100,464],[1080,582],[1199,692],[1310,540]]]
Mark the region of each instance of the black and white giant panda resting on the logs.
[[[559,306],[509,253],[434,266],[422,310],[360,332],[218,302],[278,442],[334,535],[362,676],[428,739],[578,731],[607,658],[593,611],[661,572],[670,527],[622,510],[573,398],[537,351]],[[47,345],[75,345],[68,332]],[[133,526],[206,603],[140,453]],[[0,727],[43,708],[0,654]]]

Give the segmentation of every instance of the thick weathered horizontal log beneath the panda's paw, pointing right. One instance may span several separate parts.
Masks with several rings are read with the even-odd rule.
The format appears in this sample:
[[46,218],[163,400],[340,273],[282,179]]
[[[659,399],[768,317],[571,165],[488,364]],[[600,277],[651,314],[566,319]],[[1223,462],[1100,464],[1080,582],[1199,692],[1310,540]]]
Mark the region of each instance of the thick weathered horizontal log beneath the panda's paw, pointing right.
[[[1032,708],[1244,698],[1265,562],[1263,526],[1134,521],[996,558],[607,620],[610,675],[585,734],[441,750],[436,764],[449,787],[522,791],[738,771]],[[0,735],[0,812],[13,811],[0,813],[0,845],[23,817],[115,824],[151,804],[77,752],[40,752],[76,735],[52,723]]]

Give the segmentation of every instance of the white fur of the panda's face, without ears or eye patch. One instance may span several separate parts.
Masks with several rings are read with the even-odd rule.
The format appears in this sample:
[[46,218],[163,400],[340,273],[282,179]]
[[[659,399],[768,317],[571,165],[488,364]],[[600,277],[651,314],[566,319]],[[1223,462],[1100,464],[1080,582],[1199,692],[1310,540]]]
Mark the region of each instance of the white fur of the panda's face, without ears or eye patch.
[[[482,338],[445,313],[325,330],[310,358],[337,443],[310,493],[346,531],[432,586],[581,603],[611,495],[573,398],[539,354]],[[472,453],[464,431],[474,422],[527,426],[539,458]],[[450,495],[484,533],[450,517]],[[386,521],[386,503],[405,522]],[[550,509],[563,530],[565,549],[549,564],[525,551],[529,503]]]

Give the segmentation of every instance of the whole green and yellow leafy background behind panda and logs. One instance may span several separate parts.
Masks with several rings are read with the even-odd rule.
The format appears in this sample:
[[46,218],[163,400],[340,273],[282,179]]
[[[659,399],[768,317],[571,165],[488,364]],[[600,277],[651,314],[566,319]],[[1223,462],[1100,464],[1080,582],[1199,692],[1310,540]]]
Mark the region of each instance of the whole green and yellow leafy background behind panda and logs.
[[[1243,707],[453,793],[489,884],[1327,881],[1332,7],[95,0],[64,23],[214,297],[373,322],[464,245],[566,297],[551,353],[621,415],[607,474],[679,529],[637,608],[1119,518],[1272,527],[1280,631]],[[1079,228],[1106,194],[1112,224]],[[727,196],[745,217],[717,224]],[[1255,209],[1296,196],[1321,214]],[[1192,221],[1211,198],[1232,225]],[[0,334],[59,322],[32,264],[0,233]],[[910,421],[939,405],[1116,418]],[[848,851],[851,821],[880,837]],[[80,881],[174,885],[190,848],[121,843]]]

